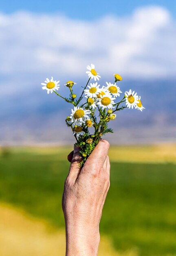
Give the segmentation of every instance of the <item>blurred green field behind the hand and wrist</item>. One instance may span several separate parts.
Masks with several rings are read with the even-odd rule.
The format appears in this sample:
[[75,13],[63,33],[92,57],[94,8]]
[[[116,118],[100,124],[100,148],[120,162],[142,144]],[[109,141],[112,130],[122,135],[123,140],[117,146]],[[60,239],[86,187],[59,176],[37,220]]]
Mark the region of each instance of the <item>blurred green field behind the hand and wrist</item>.
[[[64,227],[61,198],[69,150],[4,150],[0,200]],[[176,164],[113,159],[100,232],[118,251],[137,248],[141,256],[176,255]]]

